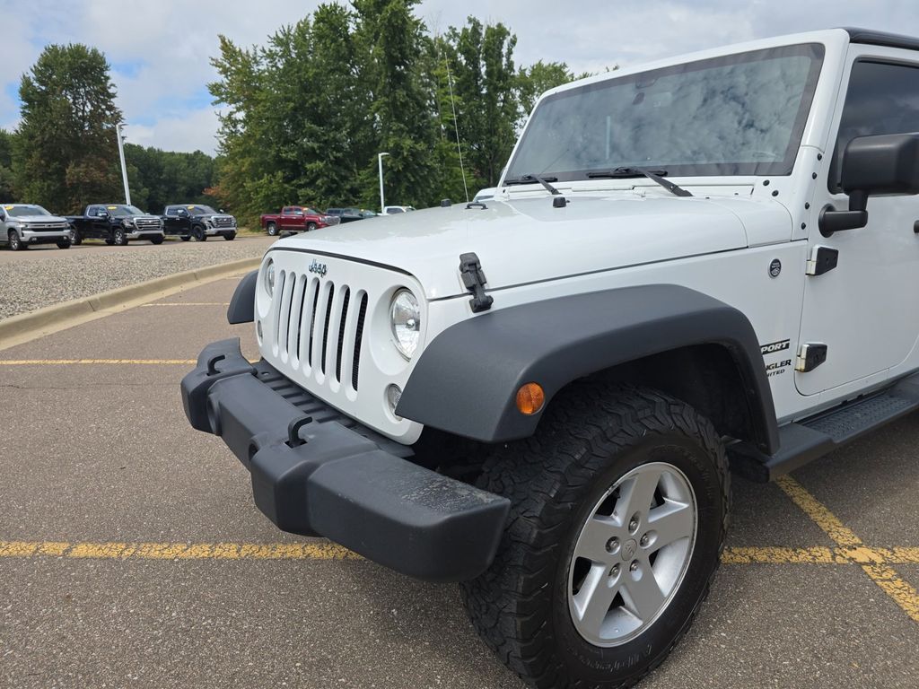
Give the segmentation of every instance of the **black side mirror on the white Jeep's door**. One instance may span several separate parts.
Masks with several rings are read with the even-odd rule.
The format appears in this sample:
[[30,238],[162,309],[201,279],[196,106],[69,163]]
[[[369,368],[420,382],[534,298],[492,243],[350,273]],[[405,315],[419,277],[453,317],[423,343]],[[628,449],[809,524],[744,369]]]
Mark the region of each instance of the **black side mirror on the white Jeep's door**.
[[843,153],[841,183],[849,209],[827,205],[820,211],[820,233],[857,230],[868,224],[868,197],[919,194],[919,133],[859,136]]

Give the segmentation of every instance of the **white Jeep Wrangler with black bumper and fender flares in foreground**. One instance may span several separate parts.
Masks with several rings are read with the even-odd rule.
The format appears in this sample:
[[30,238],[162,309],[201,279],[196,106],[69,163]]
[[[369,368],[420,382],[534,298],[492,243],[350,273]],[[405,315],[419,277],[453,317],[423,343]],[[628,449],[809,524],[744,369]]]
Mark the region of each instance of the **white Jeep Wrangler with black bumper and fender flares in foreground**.
[[686,632],[731,468],[919,406],[919,40],[834,29],[539,100],[493,200],[274,244],[182,383],[280,528],[431,581],[538,687]]

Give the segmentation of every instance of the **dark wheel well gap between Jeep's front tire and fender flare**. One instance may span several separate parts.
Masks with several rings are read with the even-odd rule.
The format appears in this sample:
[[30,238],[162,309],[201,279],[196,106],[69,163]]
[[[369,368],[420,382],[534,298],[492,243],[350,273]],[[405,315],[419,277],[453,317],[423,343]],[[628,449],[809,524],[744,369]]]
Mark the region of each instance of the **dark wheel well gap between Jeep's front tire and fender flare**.
[[588,378],[654,388],[709,418],[720,435],[754,439],[754,421],[740,369],[720,344],[697,344],[645,356]]

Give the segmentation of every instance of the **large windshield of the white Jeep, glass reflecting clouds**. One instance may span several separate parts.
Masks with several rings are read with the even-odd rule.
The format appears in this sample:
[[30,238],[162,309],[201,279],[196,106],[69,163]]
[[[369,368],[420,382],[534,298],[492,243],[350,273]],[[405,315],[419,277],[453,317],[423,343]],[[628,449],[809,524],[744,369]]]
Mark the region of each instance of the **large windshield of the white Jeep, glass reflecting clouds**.
[[820,44],[786,46],[547,96],[505,178],[569,181],[619,167],[789,175],[822,63]]

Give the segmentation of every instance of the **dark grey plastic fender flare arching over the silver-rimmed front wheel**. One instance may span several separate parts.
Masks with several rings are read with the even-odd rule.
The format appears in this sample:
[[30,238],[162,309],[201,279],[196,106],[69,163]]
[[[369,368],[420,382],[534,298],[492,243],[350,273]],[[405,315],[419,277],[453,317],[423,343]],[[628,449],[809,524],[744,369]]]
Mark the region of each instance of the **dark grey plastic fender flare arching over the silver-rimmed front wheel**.
[[516,409],[536,382],[546,404],[565,385],[609,367],[697,344],[720,344],[743,380],[756,446],[778,447],[772,391],[746,316],[677,285],[608,289],[495,309],[450,326],[425,347],[396,413],[484,442],[532,435],[541,411]]

